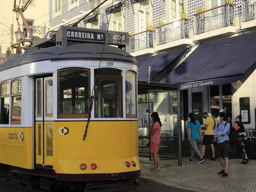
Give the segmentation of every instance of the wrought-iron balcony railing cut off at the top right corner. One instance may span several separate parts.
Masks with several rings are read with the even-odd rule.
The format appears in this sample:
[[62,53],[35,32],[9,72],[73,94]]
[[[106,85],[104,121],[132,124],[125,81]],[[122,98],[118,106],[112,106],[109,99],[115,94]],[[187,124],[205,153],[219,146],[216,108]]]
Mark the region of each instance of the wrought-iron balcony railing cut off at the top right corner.
[[254,0],[243,0],[242,22],[256,19]]

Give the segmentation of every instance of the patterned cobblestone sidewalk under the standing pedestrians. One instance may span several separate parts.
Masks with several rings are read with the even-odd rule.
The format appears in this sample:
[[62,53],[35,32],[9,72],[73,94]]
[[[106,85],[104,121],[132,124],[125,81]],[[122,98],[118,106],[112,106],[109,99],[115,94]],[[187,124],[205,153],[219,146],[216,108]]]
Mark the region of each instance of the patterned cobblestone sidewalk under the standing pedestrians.
[[183,166],[177,166],[177,160],[160,160],[161,171],[150,172],[154,168],[154,162],[148,157],[140,157],[141,175],[154,177],[176,183],[183,186],[195,187],[218,192],[254,192],[256,191],[256,160],[250,160],[247,165],[240,164],[241,159],[229,161],[228,177],[221,177],[217,172],[221,171],[218,159],[197,164],[189,163],[189,157],[183,157]]

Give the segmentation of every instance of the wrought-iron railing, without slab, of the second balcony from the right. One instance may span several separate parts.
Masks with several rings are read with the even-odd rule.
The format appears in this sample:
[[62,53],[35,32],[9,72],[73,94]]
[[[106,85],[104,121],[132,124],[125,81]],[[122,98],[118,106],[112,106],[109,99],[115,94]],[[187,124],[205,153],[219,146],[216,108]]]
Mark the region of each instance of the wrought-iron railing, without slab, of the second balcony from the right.
[[194,35],[226,26],[235,26],[236,4],[225,4],[194,15]]

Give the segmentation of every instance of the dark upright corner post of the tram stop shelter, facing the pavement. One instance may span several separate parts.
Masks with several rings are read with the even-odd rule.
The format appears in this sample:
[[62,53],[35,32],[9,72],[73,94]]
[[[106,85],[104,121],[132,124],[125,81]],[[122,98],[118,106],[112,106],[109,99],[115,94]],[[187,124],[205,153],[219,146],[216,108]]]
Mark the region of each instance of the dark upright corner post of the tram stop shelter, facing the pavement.
[[181,106],[180,106],[180,90],[177,90],[177,110],[178,110],[178,165],[182,166],[182,151],[181,151]]

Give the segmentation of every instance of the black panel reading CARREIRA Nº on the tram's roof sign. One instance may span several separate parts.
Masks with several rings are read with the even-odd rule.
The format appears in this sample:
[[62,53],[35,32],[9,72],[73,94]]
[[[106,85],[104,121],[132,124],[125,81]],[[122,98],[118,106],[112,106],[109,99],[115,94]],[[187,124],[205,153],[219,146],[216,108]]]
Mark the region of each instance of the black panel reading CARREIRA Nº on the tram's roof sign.
[[102,32],[85,32],[77,30],[67,30],[67,38],[91,40],[91,41],[105,41],[105,33]]

